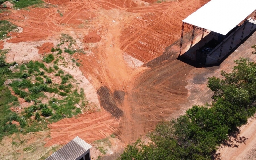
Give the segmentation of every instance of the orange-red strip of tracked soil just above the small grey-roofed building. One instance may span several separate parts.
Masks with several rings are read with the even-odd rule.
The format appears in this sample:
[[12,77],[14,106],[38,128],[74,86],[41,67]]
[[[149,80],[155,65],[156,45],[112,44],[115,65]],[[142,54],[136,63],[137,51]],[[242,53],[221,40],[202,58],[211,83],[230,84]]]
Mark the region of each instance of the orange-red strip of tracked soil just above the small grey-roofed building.
[[45,146],[53,144],[66,144],[76,136],[92,143],[103,139],[113,133],[119,122],[106,111],[82,114],[79,118],[66,118],[49,124],[51,137]]

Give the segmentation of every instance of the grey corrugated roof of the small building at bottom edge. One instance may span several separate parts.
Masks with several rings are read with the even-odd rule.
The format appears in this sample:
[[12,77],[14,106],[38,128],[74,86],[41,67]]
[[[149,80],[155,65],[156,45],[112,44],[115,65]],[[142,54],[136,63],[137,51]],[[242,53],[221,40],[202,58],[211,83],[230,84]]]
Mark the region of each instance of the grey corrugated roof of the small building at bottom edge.
[[77,136],[45,160],[75,160],[91,147]]

